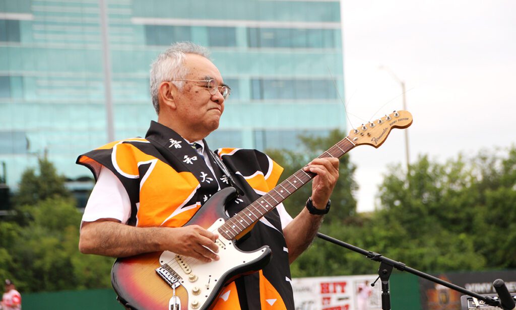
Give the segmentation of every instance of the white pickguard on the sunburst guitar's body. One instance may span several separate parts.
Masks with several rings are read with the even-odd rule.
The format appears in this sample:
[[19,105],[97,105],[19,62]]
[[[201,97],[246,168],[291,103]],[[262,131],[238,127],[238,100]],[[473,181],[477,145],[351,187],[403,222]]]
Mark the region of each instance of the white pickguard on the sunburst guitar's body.
[[[208,231],[216,232],[223,223],[224,220],[219,218],[210,228],[208,228]],[[159,263],[161,265],[168,264],[182,278],[180,280],[180,284],[188,292],[188,301],[183,301],[183,303],[188,302],[189,310],[203,309],[207,307],[208,305],[206,305],[206,301],[212,294],[216,293],[213,289],[219,281],[224,280],[222,279],[223,275],[231,269],[258,260],[260,256],[263,255],[266,248],[263,247],[254,252],[242,252],[235,247],[233,240],[225,239],[220,234],[219,239],[217,240],[217,245],[219,246],[219,252],[217,254],[220,256],[220,260],[218,261],[205,263],[192,257],[182,257],[183,261],[186,262],[189,269],[191,269],[190,273],[185,273],[183,268],[179,266],[179,263],[176,261],[175,253],[165,251],[159,257]],[[188,277],[190,274],[197,275],[197,279],[194,282],[189,281]],[[194,295],[194,290],[197,288],[200,292],[199,294]],[[172,300],[173,299],[171,299],[170,306],[172,305]],[[198,303],[198,306],[192,306],[195,305],[196,302]]]

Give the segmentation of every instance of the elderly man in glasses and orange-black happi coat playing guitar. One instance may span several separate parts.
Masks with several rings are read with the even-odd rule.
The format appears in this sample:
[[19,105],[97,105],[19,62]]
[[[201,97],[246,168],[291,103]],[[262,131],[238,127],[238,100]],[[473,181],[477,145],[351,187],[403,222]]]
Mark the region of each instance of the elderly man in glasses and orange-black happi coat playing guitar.
[[[182,42],[158,56],[151,70],[158,120],[145,139],[112,142],[77,159],[97,180],[83,216],[81,252],[127,257],[171,251],[204,262],[220,259],[218,234],[185,223],[229,186],[239,188],[225,205],[233,216],[270,191],[282,171],[257,150],[209,150],[204,138],[218,128],[229,94],[203,47]],[[329,210],[338,160],[316,159],[304,170],[316,175],[306,208],[292,219],[280,203],[238,240],[247,251],[269,246],[272,259],[224,288],[215,309],[294,309],[289,263],[309,246]]]

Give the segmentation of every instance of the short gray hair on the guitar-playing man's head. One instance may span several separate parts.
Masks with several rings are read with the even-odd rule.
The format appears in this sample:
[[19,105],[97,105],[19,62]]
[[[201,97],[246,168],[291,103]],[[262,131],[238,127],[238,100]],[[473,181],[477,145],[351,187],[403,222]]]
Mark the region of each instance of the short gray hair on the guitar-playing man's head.
[[[197,54],[209,59],[209,51],[205,47],[192,42],[178,42],[159,54],[151,65],[150,90],[152,105],[157,114],[159,114],[159,84],[163,81],[186,77],[188,70],[183,65],[186,54]],[[183,89],[184,81],[172,81],[172,83],[179,90]]]

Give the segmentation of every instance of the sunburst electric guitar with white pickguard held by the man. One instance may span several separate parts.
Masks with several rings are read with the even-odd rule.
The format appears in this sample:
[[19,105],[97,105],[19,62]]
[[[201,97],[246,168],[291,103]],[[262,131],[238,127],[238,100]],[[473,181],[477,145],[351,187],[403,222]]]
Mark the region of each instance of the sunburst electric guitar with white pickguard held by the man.
[[[319,158],[340,158],[362,144],[377,148],[393,128],[407,128],[411,124],[412,115],[408,111],[394,111],[351,130]],[[235,246],[235,240],[314,177],[315,174],[300,169],[231,218],[225,215],[224,205],[236,197],[235,188],[217,192],[186,225],[199,225],[218,233],[220,260],[205,263],[170,251],[119,258],[111,270],[111,283],[119,301],[127,308],[138,310],[210,309],[225,285],[240,275],[259,271],[270,260],[268,246],[244,252]]]

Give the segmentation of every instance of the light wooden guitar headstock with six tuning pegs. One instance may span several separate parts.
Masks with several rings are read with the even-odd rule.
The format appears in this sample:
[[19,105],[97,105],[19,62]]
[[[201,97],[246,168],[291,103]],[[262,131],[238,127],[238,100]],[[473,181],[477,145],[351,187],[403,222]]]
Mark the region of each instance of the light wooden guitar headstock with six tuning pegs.
[[412,114],[409,111],[394,111],[389,115],[378,118],[374,122],[349,131],[348,138],[356,146],[367,144],[379,147],[385,141],[393,128],[407,128],[412,124]]

